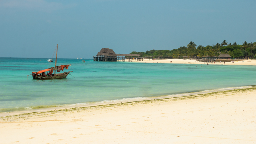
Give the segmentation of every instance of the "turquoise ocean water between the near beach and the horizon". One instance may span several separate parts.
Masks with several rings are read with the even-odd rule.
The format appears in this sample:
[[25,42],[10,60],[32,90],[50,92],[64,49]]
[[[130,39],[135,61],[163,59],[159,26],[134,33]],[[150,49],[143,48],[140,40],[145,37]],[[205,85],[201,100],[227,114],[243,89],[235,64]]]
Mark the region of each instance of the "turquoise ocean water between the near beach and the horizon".
[[[96,62],[72,64],[65,79],[33,80],[54,66],[46,58],[0,58],[0,112],[149,97],[254,85],[256,66]],[[49,66],[50,64],[50,66]],[[61,71],[62,72],[62,71]],[[30,75],[30,76],[27,76]],[[74,77],[73,77],[74,76]]]

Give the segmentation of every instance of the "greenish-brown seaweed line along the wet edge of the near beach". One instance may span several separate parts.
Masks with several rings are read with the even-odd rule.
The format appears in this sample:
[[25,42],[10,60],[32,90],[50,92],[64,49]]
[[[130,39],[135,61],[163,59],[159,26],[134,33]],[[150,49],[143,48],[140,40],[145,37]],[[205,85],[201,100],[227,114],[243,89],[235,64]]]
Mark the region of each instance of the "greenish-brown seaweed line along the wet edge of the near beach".
[[[0,117],[0,123],[15,123],[15,120],[18,119],[28,119],[30,117],[40,116],[56,116],[60,114],[68,114],[68,113],[74,113],[79,111],[88,111],[92,110],[99,110],[102,108],[111,108],[111,107],[119,107],[119,106],[128,106],[128,105],[136,105],[136,104],[149,104],[149,103],[162,103],[167,101],[177,101],[177,100],[188,100],[188,99],[199,99],[204,97],[224,97],[228,95],[233,95],[234,93],[239,92],[250,92],[255,91],[256,87],[251,88],[243,88],[243,89],[235,89],[235,90],[227,90],[227,91],[219,91],[219,92],[210,92],[205,94],[197,94],[197,95],[189,95],[189,96],[182,96],[182,97],[171,97],[171,98],[161,98],[161,99],[152,99],[152,100],[141,100],[141,101],[131,101],[131,102],[121,102],[121,103],[113,103],[113,104],[105,104],[105,105],[96,105],[96,106],[88,106],[88,107],[79,107],[79,108],[65,108],[65,109],[57,109],[57,110],[50,110],[50,111],[44,111],[44,112],[30,112],[30,113],[23,113],[18,115],[10,115],[10,116],[2,116]],[[25,120],[25,119],[24,119]],[[28,121],[29,122],[29,121]],[[31,122],[31,121],[30,121]]]

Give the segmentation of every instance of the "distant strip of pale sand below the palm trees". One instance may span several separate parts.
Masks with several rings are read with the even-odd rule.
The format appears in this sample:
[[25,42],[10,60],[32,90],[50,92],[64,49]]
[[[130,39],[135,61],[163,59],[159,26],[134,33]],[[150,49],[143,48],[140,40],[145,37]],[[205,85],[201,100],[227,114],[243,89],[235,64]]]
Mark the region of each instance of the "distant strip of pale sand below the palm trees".
[[[172,61],[172,62],[170,62]],[[143,60],[143,61],[133,61],[133,62],[142,62],[142,63],[173,63],[173,64],[188,64],[188,62],[191,62],[190,64],[204,64],[204,62],[196,61],[196,60],[183,60],[183,59],[166,59],[166,60]],[[205,63],[207,64],[207,63]],[[208,64],[213,64],[213,65],[224,65],[224,62],[213,62],[213,63],[208,63]],[[237,62],[225,62],[225,65],[256,65],[256,60],[245,60],[243,61],[237,61]]]

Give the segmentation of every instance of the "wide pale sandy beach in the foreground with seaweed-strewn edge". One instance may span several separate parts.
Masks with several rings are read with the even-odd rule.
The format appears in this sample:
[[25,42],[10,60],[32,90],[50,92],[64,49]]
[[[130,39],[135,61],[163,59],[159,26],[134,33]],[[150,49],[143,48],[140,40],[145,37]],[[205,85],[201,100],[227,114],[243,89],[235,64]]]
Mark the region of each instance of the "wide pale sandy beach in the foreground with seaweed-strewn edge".
[[19,115],[13,112],[0,117],[1,144],[256,143],[255,94],[253,87]]

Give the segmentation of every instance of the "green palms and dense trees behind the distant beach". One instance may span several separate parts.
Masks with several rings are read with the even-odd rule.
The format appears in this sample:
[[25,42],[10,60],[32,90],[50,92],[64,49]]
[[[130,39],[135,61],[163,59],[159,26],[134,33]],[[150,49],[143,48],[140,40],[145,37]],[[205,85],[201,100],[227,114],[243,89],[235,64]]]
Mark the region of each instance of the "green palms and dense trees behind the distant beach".
[[243,44],[233,44],[224,40],[221,44],[216,43],[215,45],[197,46],[194,42],[189,42],[187,47],[181,46],[178,49],[173,50],[151,50],[147,52],[132,52],[131,54],[140,54],[140,57],[146,56],[157,56],[162,55],[163,58],[182,58],[183,56],[219,56],[220,53],[227,53],[233,58],[244,58],[244,57],[253,57],[256,59],[256,42],[247,43],[246,41]]

